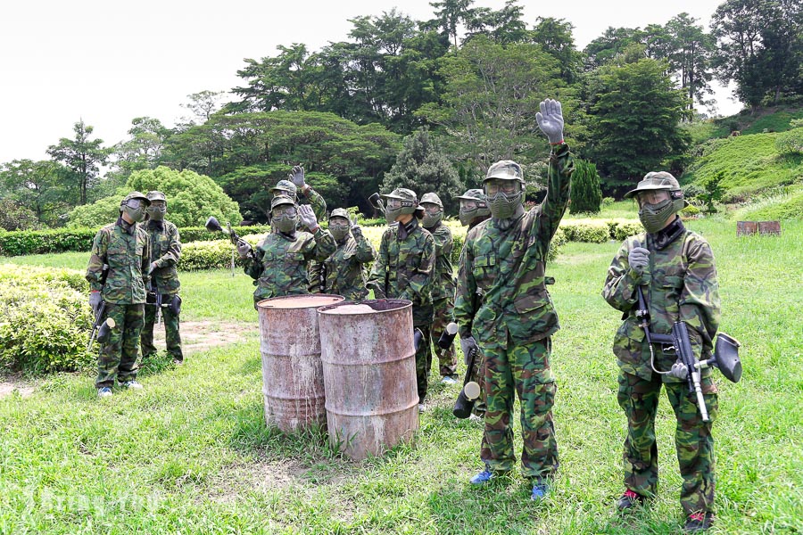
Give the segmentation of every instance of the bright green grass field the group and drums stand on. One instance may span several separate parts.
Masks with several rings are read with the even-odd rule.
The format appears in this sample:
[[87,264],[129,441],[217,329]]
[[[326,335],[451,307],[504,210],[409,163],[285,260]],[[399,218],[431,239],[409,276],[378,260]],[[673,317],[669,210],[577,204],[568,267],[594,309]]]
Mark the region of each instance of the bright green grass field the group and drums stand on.
[[[617,203],[616,215],[634,217]],[[717,376],[717,520],[711,533],[803,528],[803,223],[781,237],[735,237],[735,222],[701,220],[716,254],[723,331],[743,343],[739,384]],[[600,297],[618,243],[567,243],[548,268],[562,329],[554,337],[560,473],[534,504],[518,474],[475,489],[477,424],[451,416],[457,387],[432,379],[432,407],[414,445],[357,463],[324,432],[266,428],[259,339],[188,356],[143,374],[145,391],[95,396],[93,377],[59,374],[28,398],[0,399],[2,533],[677,533],[681,478],[675,419],[658,415],[659,496],[626,517],[625,418],[611,354],[619,314]],[[6,259],[4,259],[6,260]],[[87,255],[7,259],[86,267]],[[250,279],[182,275],[183,319],[256,322]],[[435,370],[436,375],[436,370]],[[517,422],[517,419],[514,418]],[[518,430],[518,424],[517,424]],[[520,453],[517,436],[517,453]]]

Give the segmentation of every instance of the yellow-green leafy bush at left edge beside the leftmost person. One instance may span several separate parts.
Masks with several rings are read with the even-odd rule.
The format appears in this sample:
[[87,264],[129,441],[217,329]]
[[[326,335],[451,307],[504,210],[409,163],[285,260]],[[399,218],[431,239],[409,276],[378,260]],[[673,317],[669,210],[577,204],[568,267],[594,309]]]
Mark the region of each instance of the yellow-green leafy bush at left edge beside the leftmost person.
[[88,289],[78,270],[0,265],[0,366],[34,373],[90,368]]

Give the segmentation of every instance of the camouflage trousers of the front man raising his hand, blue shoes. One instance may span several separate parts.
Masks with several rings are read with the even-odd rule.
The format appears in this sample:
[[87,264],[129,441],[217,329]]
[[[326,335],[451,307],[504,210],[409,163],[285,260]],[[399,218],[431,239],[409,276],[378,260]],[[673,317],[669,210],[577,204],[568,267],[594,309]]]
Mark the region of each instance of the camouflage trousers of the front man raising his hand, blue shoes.
[[522,474],[530,480],[551,477],[558,470],[558,441],[552,404],[558,387],[551,374],[551,338],[480,347],[485,366],[485,429],[480,456],[492,472],[509,472],[513,453],[513,402],[521,404]]

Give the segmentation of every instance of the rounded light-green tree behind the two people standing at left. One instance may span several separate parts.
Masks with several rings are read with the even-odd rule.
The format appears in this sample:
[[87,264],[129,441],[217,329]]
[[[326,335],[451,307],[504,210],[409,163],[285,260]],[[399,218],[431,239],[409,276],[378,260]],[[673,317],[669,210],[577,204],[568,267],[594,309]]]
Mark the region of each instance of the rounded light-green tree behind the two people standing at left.
[[203,226],[210,216],[236,223],[242,219],[237,203],[210,177],[188,169],[177,171],[161,166],[135,171],[116,194],[72,210],[69,226],[97,227],[111,223],[118,217],[120,201],[126,193],[153,190],[165,194],[168,219],[177,226]]

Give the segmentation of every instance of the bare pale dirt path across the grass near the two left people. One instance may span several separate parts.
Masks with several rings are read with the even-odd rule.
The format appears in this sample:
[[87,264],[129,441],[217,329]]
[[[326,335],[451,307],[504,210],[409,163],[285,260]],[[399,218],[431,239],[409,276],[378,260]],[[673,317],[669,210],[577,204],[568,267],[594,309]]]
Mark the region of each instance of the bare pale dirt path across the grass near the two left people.
[[[185,354],[209,350],[230,343],[242,342],[259,333],[256,323],[234,323],[219,321],[182,321],[181,348]],[[153,342],[158,350],[164,350],[164,325],[154,325]],[[19,391],[28,398],[37,388],[36,382],[25,381],[22,374],[9,374],[0,377],[0,399]]]

